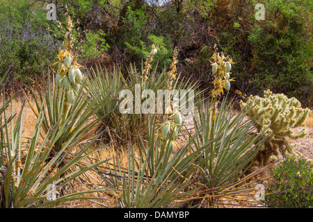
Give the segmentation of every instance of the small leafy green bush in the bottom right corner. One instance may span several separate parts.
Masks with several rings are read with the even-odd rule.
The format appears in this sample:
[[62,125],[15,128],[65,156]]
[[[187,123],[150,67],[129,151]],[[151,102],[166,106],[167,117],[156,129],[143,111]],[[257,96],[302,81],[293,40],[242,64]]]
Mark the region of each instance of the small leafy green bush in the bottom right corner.
[[265,203],[268,207],[312,208],[313,165],[304,158],[285,160],[271,169],[275,183],[267,190]]

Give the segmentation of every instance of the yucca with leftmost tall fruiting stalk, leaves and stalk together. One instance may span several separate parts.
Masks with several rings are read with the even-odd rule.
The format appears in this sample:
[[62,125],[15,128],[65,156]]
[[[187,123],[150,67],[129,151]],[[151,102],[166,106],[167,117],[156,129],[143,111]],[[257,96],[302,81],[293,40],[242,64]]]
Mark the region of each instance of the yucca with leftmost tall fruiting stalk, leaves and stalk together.
[[[56,127],[60,130],[60,133],[63,133],[54,144],[55,151],[60,151],[67,140],[73,135],[81,135],[81,142],[85,139],[93,138],[95,136],[93,133],[101,118],[95,118],[90,121],[90,117],[93,117],[93,114],[95,114],[99,107],[109,102],[106,96],[102,96],[101,99],[97,99],[97,96],[91,96],[92,89],[90,87],[88,89],[86,79],[83,79],[79,70],[80,65],[72,53],[72,46],[75,40],[71,34],[72,27],[72,20],[67,12],[66,48],[58,54],[58,62],[54,64],[58,65],[58,71],[56,72],[52,69],[56,72],[53,80],[51,81],[49,72],[47,78],[45,77],[45,73],[42,73],[42,85],[45,94],[41,93],[41,87],[37,80],[37,92],[30,85],[32,96],[35,100],[35,107],[31,105],[30,101],[29,105],[34,114],[38,116],[42,104],[47,105],[45,107],[47,114],[43,114],[42,126],[44,132],[47,134],[50,128]],[[75,70],[73,71],[73,69]],[[71,76],[72,74],[76,74],[76,76]],[[88,121],[90,123],[86,124]]]

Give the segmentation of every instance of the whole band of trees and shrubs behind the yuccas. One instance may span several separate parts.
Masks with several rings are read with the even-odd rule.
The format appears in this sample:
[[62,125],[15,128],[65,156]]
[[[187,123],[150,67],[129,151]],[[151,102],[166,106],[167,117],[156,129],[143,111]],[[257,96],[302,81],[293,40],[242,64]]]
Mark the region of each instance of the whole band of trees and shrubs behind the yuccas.
[[[61,39],[58,23],[46,19],[47,3],[56,5],[61,24],[65,4],[79,22],[73,29],[76,53],[87,67],[140,65],[156,44],[160,50],[152,65],[159,62],[161,70],[177,46],[178,71],[207,88],[212,80],[207,60],[217,44],[237,62],[231,94],[271,89],[312,104],[312,1],[2,0],[1,75],[13,65],[9,77],[25,79],[54,60]],[[255,19],[257,3],[265,6],[264,20]]]

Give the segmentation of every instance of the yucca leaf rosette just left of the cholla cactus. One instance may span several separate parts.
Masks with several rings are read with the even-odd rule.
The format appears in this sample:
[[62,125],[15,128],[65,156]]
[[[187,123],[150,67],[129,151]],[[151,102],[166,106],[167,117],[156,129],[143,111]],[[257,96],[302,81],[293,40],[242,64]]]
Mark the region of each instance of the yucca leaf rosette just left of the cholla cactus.
[[[255,119],[245,119],[246,112],[233,113],[234,103],[230,101],[227,104],[227,98],[220,104],[214,118],[211,112],[212,103],[214,101],[198,103],[199,112],[193,122],[195,130],[200,132],[193,139],[193,145],[197,151],[210,143],[209,148],[203,151],[201,160],[198,160],[202,163],[198,167],[202,173],[201,181],[214,196],[227,194],[236,183],[242,182],[240,178],[249,172],[252,160],[265,141],[265,130],[259,134],[253,133]],[[214,142],[211,142],[212,138],[215,138]],[[209,158],[212,155],[214,158]],[[209,203],[211,204],[212,202]]]

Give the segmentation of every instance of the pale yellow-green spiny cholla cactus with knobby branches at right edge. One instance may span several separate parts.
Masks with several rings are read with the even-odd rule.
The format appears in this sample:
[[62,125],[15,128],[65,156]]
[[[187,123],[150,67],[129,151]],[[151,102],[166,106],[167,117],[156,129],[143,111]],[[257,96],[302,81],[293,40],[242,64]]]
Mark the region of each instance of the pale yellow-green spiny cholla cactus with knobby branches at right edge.
[[294,97],[288,99],[284,94],[273,94],[270,90],[264,91],[264,98],[249,96],[246,103],[241,101],[240,105],[242,110],[250,109],[249,117],[259,115],[255,121],[259,132],[268,128],[266,135],[269,137],[256,157],[260,164],[267,164],[269,157],[278,155],[278,151],[283,155],[287,155],[287,152],[294,154],[294,146],[285,138],[305,137],[305,128],[296,134],[291,129],[305,126],[304,121],[310,114],[310,109],[301,108],[300,102]]

